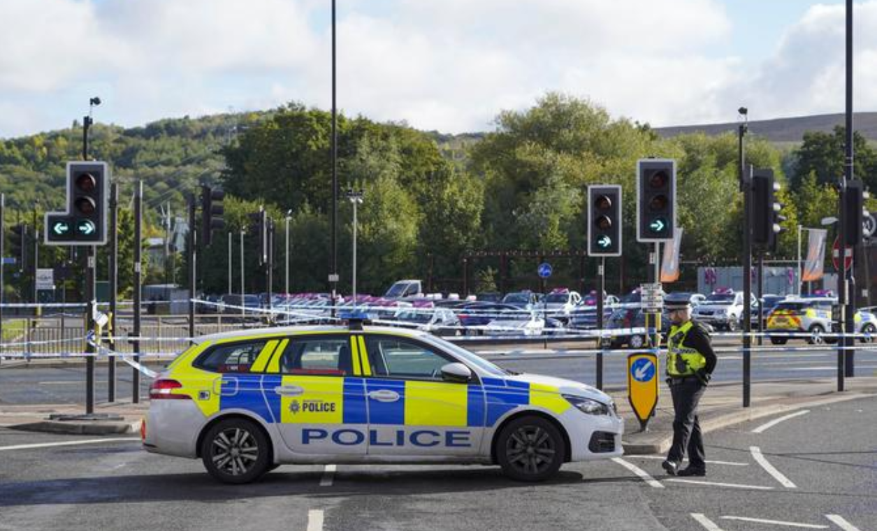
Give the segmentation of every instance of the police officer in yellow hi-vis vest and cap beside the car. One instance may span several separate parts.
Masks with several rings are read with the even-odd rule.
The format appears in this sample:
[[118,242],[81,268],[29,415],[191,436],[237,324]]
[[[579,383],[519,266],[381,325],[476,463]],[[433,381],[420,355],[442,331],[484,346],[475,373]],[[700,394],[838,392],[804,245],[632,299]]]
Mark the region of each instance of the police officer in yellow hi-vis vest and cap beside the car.
[[[671,476],[705,476],[703,437],[697,421],[697,403],[716,368],[716,352],[703,326],[691,320],[688,298],[664,303],[670,314],[667,336],[667,385],[673,396],[673,445],[661,466]],[[688,450],[688,468],[680,470]]]

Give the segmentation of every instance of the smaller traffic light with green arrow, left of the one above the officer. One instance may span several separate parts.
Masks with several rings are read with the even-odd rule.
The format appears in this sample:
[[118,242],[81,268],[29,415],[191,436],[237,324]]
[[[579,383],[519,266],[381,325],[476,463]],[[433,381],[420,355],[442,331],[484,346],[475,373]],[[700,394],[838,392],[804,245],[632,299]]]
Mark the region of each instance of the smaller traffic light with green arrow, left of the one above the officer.
[[588,256],[621,256],[621,187],[588,187]]

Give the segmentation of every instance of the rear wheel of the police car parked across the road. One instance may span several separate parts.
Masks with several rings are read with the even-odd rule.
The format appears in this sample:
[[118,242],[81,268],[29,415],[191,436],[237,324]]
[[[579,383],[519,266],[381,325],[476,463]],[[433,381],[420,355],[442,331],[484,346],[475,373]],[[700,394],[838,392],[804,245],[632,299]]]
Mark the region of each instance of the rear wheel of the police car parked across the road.
[[210,476],[234,485],[260,478],[272,466],[271,445],[253,421],[219,421],[204,435],[201,460]]

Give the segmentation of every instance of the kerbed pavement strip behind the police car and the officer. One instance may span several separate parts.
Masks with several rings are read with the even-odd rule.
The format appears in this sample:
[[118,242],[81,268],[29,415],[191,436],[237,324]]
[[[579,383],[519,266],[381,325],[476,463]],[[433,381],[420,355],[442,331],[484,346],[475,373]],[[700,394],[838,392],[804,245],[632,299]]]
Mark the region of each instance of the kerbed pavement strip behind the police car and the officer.
[[[845,380],[845,391],[838,393],[836,379],[799,379],[752,384],[751,406],[742,407],[743,397],[739,383],[709,386],[699,409],[704,433],[726,428],[761,417],[821,406],[845,400],[877,396],[877,377],[857,377]],[[658,406],[646,430],[631,410],[626,391],[610,391],[616,400],[618,413],[624,417],[624,452],[628,455],[652,455],[667,452],[673,439],[673,404],[669,390],[661,383]],[[96,414],[118,417],[117,420],[82,420],[84,407],[63,405],[0,406],[0,427],[25,431],[75,435],[108,435],[137,433],[149,401],[139,404],[119,401],[96,404]],[[71,415],[66,420],[50,416]]]

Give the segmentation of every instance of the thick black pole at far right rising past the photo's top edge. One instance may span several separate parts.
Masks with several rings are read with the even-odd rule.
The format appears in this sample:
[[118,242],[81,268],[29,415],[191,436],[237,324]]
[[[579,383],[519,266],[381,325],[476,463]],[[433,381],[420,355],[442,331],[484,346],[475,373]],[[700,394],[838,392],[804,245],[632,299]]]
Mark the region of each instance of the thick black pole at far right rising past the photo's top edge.
[[[852,130],[852,0],[846,0],[846,157],[845,157],[845,167],[844,167],[844,181],[852,181],[855,176],[853,175],[853,130]],[[841,203],[845,205],[845,202]],[[842,207],[845,209],[845,206]],[[850,216],[850,212],[844,212],[841,217],[842,220],[845,220],[846,216]],[[843,221],[841,223],[844,223]],[[843,225],[842,225],[843,226]],[[845,230],[845,229],[842,229]],[[855,260],[856,252],[859,251],[861,247],[861,241],[856,242],[852,245],[852,254],[853,260]],[[846,254],[846,245],[845,240],[841,238],[840,248]],[[845,257],[844,257],[845,258]],[[841,264],[845,264],[845,260],[841,260]],[[840,301],[841,311],[844,313],[845,318],[845,332],[855,332],[855,322],[854,317],[856,315],[856,279],[854,275],[855,269],[847,267],[844,265],[844,299],[846,301],[847,308],[843,307],[844,302]],[[845,346],[845,360],[844,360],[844,375],[848,378],[852,378],[855,372],[855,341],[853,337],[844,336],[844,340],[838,342],[838,344],[843,344]]]

